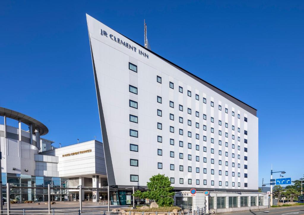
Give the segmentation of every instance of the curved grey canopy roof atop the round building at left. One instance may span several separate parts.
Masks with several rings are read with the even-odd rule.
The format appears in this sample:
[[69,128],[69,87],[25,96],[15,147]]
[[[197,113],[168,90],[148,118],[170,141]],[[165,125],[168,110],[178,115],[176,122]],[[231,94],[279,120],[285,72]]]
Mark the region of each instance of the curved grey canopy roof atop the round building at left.
[[16,119],[16,120],[21,119],[21,122],[28,126],[29,126],[29,124],[32,124],[33,131],[35,131],[36,128],[39,129],[39,133],[41,136],[45,135],[49,132],[49,129],[47,129],[47,126],[45,126],[43,123],[39,122],[38,120],[36,120],[30,116],[27,116],[23,113],[19,113],[17,111],[11,110],[11,109],[0,107],[0,116],[4,116],[4,115],[11,119]]

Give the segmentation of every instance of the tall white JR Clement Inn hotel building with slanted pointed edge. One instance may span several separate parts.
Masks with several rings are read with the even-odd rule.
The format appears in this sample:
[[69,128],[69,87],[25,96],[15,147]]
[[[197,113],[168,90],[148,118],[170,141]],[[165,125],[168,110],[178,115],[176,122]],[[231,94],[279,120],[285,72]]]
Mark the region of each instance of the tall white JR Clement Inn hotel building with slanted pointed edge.
[[220,192],[215,208],[268,204],[249,197],[258,196],[256,109],[89,15],[87,24],[110,186],[145,188],[160,173],[176,191]]

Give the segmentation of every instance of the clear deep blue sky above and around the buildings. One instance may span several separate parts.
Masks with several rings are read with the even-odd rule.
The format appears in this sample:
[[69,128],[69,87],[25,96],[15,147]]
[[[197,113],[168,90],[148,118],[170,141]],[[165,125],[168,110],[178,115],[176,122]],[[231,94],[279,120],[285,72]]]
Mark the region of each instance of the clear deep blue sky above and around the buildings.
[[54,146],[101,140],[85,13],[256,108],[259,185],[302,176],[303,1],[0,1],[0,106]]

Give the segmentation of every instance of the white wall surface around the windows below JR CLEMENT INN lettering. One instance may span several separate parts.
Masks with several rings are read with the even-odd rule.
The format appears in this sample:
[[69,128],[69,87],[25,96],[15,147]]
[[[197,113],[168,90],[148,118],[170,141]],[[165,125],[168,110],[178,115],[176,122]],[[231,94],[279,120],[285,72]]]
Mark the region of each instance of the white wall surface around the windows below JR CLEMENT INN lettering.
[[[110,185],[145,186],[152,175],[161,173],[174,177],[175,188],[258,190],[258,118],[254,114],[89,15],[87,22]],[[108,35],[101,35],[101,29]],[[110,39],[110,34],[136,47],[136,52]],[[139,49],[149,57],[140,55]],[[137,66],[137,73],[129,70],[129,62]],[[156,81],[157,76],[162,78],[162,84]],[[169,82],[174,83],[174,89],[169,88]],[[138,88],[138,95],[129,92],[129,84]],[[183,93],[178,91],[179,86],[183,87]],[[187,90],[192,92],[192,97],[187,96]],[[199,101],[195,94],[199,95]],[[157,103],[157,96],[162,97],[161,104]],[[138,109],[129,107],[129,99],[138,102]],[[174,108],[169,107],[169,101],[174,102]],[[211,101],[214,107],[211,107]],[[179,111],[179,105],[183,105],[183,112]],[[222,106],[221,111],[219,105]],[[225,113],[225,107],[228,113]],[[187,108],[192,109],[191,115]],[[162,110],[162,117],[157,116],[157,109]],[[199,112],[199,117],[195,116],[195,111]],[[232,111],[235,116],[232,116]],[[169,119],[169,113],[174,114],[174,121]],[[129,114],[138,116],[138,123],[130,122]],[[207,120],[203,119],[203,114],[207,115]],[[184,123],[179,123],[179,116],[183,117]],[[248,122],[244,122],[244,116]],[[211,117],[214,117],[214,123],[211,123]],[[187,125],[188,119],[192,120],[192,126]],[[219,126],[219,120],[222,126]],[[157,122],[162,123],[162,130],[157,129]],[[195,128],[196,122],[199,129]],[[225,122],[228,128],[225,128]],[[206,131],[203,125],[207,126]],[[235,126],[234,131],[232,125]],[[169,126],[174,126],[174,133],[169,132]],[[211,127],[214,133],[211,133]],[[237,132],[238,127],[240,133]],[[137,130],[138,138],[130,137],[129,129]],[[179,129],[183,129],[183,136],[179,135]],[[244,135],[244,129],[247,129],[248,136]],[[191,138],[187,136],[188,131],[192,132]],[[196,133],[199,140],[195,139]],[[157,142],[157,136],[162,136],[162,143]],[[207,136],[207,141],[203,141],[203,136]],[[237,136],[240,136],[240,141]],[[246,137],[248,144],[244,143]],[[174,139],[174,146],[170,145],[170,138]],[[214,138],[214,143],[211,143],[211,138]],[[219,140],[222,140],[221,146]],[[179,141],[183,141],[184,147],[179,147]],[[225,142],[228,142],[228,147],[225,147]],[[139,151],[130,151],[130,143],[138,145]],[[192,143],[192,149],[187,148],[188,143]],[[196,144],[199,151],[195,150]],[[232,144],[235,144],[235,149],[232,149]],[[207,152],[203,152],[203,146],[207,147]],[[244,147],[248,152],[244,152]],[[211,148],[214,154],[210,153]],[[162,156],[157,155],[157,149],[162,149]],[[221,156],[219,150],[222,150]],[[174,158],[170,158],[170,151],[174,151]],[[184,159],[179,159],[179,153],[184,154]],[[232,153],[235,158],[232,158]],[[192,155],[191,161],[188,154]],[[248,161],[244,161],[246,155]],[[199,156],[199,162],[195,161],[195,156]],[[203,163],[203,157],[207,158],[207,163]],[[214,164],[211,164],[211,158]],[[139,160],[139,166],[130,166],[130,159]],[[218,165],[219,160],[222,160],[221,166]],[[228,166],[225,166],[225,161],[228,161]],[[158,162],[163,163],[163,169],[157,168]],[[232,167],[232,162],[235,167]],[[246,163],[248,170],[244,169]],[[175,170],[170,170],[170,164],[174,164]],[[179,171],[179,165],[184,166],[183,172]],[[188,166],[192,166],[192,172],[188,172]],[[200,173],[195,173],[196,167],[200,168]],[[203,168],[207,168],[207,174],[203,174]],[[214,169],[214,175],[211,175],[211,169]],[[222,170],[221,176],[219,170]],[[228,171],[228,176],[225,176],[225,171]],[[232,177],[232,172],[235,172],[235,177]],[[238,172],[240,177],[237,177]],[[244,178],[244,173],[248,173],[248,178]],[[139,182],[130,182],[131,174],[139,175]],[[179,183],[179,178],[184,179],[183,184]],[[192,179],[192,184],[188,184],[188,179]],[[200,180],[199,185],[196,185],[196,179]],[[207,185],[203,185],[203,180],[207,180]],[[211,180],[214,180],[214,186]],[[222,186],[219,186],[220,180]],[[225,186],[226,181],[228,186]],[[235,182],[234,187],[232,182]],[[248,183],[248,187],[244,187],[244,183]]]

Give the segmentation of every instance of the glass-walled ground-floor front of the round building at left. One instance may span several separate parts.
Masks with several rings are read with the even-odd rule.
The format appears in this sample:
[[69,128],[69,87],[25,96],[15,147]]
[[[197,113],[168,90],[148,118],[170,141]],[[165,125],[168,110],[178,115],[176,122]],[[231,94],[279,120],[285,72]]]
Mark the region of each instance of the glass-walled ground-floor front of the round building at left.
[[[23,174],[2,173],[3,198],[6,197],[6,183],[11,186],[24,187],[12,188],[10,191],[10,201],[24,202],[24,201],[47,201],[47,189],[33,189],[26,187],[47,187],[50,184],[52,187],[68,187],[68,179],[59,177],[40,177]],[[51,201],[64,200],[64,195],[67,195],[67,189],[51,189]]]

